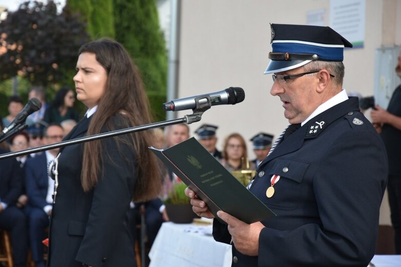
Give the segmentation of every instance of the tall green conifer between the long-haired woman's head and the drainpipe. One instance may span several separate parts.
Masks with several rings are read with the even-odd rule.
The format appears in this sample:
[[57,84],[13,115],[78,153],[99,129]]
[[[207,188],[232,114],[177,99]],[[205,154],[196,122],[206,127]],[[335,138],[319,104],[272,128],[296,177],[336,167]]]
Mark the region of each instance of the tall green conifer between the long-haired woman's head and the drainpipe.
[[167,53],[159,27],[156,1],[113,2],[116,39],[124,45],[138,66],[147,92],[166,92]]

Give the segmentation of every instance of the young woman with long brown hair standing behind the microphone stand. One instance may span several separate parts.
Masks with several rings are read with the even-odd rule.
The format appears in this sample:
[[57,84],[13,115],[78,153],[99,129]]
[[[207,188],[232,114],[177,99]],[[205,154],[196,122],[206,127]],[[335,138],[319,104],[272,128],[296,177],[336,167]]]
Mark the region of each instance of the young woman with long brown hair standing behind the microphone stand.
[[[151,122],[139,72],[119,43],[83,45],[76,69],[77,98],[88,111],[65,139]],[[162,185],[151,138],[142,131],[60,151],[48,266],[135,266],[129,203],[155,198]]]

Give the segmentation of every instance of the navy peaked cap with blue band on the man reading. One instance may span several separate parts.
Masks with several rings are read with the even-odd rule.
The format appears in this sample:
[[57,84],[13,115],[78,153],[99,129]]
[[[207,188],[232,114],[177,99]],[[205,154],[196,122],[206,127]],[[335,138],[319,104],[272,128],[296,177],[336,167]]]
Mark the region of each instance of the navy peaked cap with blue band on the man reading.
[[312,60],[342,61],[344,47],[352,47],[330,27],[271,24],[271,59],[264,74],[292,70]]

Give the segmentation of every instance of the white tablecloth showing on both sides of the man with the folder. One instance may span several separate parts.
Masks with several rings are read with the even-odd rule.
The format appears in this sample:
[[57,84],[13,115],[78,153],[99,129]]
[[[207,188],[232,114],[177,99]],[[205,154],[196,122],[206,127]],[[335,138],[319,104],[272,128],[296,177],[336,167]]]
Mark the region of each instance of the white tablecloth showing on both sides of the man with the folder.
[[[149,267],[230,267],[231,245],[216,242],[207,227],[164,222],[149,252]],[[401,255],[375,255],[375,267],[401,267]]]

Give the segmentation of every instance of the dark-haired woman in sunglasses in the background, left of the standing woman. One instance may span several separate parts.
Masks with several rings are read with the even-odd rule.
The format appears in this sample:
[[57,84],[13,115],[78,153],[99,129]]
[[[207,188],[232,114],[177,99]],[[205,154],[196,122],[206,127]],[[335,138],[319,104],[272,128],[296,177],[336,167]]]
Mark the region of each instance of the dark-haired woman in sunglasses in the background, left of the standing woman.
[[68,87],[61,88],[49,108],[46,109],[44,120],[48,124],[60,124],[63,120],[79,121],[78,111],[74,109],[75,94]]

